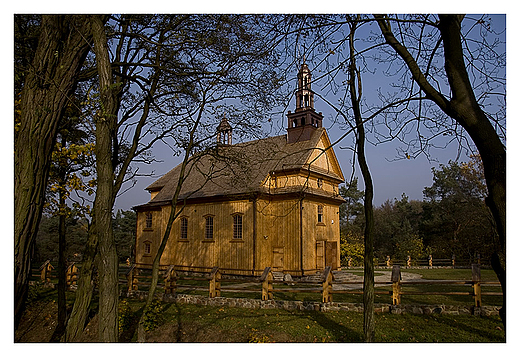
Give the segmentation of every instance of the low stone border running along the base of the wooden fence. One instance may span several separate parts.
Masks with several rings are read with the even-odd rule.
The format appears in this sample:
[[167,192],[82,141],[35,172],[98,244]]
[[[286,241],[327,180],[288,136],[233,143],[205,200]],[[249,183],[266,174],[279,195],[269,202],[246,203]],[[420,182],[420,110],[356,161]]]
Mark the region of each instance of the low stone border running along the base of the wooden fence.
[[[124,294],[129,298],[139,300],[146,299],[148,293],[146,291],[133,291]],[[195,304],[202,306],[228,306],[241,307],[246,309],[283,309],[298,311],[347,311],[347,312],[363,312],[363,304],[346,303],[346,302],[314,302],[314,301],[287,301],[287,300],[267,300],[247,298],[226,298],[215,297],[210,298],[201,295],[186,294],[157,294],[157,298],[164,302],[178,302],[184,304]],[[374,304],[376,313],[391,314],[415,314],[415,315],[475,315],[475,316],[498,316],[498,306],[454,306],[454,305],[391,305],[391,304]]]

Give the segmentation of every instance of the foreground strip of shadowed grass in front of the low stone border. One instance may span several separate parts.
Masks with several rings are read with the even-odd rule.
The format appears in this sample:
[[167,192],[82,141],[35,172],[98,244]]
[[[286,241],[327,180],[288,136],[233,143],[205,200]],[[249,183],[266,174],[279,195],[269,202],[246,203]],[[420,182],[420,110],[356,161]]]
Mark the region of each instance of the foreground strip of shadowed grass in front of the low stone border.
[[[140,304],[134,308],[139,309]],[[156,342],[362,342],[363,315],[163,304]],[[376,342],[505,342],[498,317],[376,314]],[[135,340],[135,335],[130,341]],[[124,342],[124,341],[121,341]]]

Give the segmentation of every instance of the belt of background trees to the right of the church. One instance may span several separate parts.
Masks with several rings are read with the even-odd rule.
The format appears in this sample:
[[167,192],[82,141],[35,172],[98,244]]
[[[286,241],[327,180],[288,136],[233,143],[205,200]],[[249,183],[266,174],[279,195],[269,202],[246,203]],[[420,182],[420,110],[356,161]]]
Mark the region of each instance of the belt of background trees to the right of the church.
[[[406,194],[374,209],[374,256],[378,263],[391,259],[451,259],[489,262],[495,231],[485,205],[486,187],[478,156],[469,163],[450,161],[432,169],[433,184],[425,187],[423,201]],[[347,200],[340,208],[341,263],[363,264],[363,192],[357,179],[340,188]]]

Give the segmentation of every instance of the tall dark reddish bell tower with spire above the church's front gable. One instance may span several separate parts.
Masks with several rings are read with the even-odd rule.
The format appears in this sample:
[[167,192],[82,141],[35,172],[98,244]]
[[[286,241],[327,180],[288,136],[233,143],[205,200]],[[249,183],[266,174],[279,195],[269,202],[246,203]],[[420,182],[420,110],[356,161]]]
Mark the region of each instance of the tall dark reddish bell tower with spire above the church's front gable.
[[316,128],[321,128],[323,115],[314,110],[314,92],[311,88],[312,75],[304,62],[298,72],[296,90],[296,110],[287,113],[287,143],[305,141],[311,138]]

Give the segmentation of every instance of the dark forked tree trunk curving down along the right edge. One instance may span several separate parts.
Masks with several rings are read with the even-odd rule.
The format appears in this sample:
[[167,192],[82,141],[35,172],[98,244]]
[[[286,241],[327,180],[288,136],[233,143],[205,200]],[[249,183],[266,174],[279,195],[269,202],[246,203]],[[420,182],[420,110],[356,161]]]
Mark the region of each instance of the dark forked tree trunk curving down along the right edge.
[[393,35],[390,23],[383,15],[374,15],[386,42],[392,46],[408,66],[414,81],[426,96],[448,116],[455,119],[475,143],[482,164],[488,189],[486,204],[493,215],[499,249],[493,254],[493,269],[504,294],[500,317],[505,327],[506,311],[506,148],[492,123],[481,109],[469,79],[461,42],[461,15],[439,15],[439,30],[444,46],[444,66],[451,89],[451,99],[445,98],[428,83],[415,59]]

